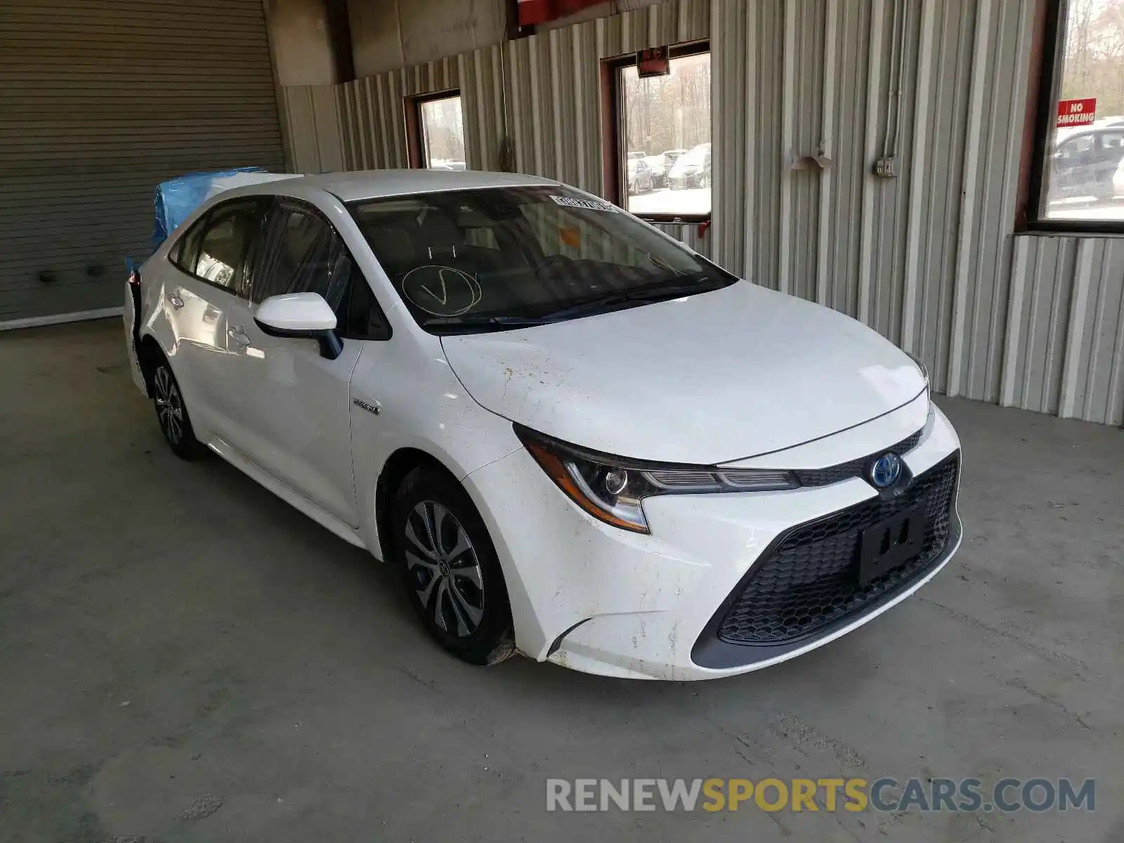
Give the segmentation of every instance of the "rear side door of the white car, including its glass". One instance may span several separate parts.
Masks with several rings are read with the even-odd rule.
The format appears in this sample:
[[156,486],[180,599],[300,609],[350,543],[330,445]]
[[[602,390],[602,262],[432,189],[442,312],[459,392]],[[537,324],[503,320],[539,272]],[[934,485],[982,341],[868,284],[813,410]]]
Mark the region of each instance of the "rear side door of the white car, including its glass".
[[169,257],[174,268],[162,306],[175,336],[172,368],[197,433],[234,442],[244,436],[230,388],[241,364],[236,305],[248,282],[250,245],[268,198],[219,202],[194,223]]

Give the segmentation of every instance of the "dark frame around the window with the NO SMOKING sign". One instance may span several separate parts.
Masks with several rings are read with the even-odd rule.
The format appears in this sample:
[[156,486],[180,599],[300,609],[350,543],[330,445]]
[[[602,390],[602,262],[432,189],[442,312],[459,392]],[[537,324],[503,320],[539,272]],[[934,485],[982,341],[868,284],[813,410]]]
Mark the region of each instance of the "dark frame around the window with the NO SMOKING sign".
[[[1058,100],[1061,94],[1068,6],[1068,0],[1037,0],[1015,233],[1124,234],[1124,219],[1051,219],[1043,214],[1049,189],[1050,138],[1058,121]],[[1035,67],[1036,73],[1033,70]],[[1124,126],[1121,128],[1124,129]],[[1097,144],[1099,146],[1099,142]]]

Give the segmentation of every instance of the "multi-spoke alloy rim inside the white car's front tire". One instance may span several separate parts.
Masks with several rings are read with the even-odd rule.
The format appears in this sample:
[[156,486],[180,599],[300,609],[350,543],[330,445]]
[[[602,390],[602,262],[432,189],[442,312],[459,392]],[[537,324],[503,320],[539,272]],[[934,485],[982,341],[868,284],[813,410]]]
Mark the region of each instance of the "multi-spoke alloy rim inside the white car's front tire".
[[456,637],[480,626],[484,614],[483,572],[472,540],[456,516],[423,500],[406,519],[406,570],[422,607]]

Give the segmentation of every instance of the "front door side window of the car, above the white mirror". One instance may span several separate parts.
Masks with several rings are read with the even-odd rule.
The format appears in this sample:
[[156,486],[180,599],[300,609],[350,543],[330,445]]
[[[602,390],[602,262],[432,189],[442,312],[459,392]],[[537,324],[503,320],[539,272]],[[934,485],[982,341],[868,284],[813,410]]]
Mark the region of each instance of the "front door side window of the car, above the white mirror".
[[326,219],[303,203],[280,201],[257,250],[252,298],[318,292],[338,312],[351,269],[347,247]]

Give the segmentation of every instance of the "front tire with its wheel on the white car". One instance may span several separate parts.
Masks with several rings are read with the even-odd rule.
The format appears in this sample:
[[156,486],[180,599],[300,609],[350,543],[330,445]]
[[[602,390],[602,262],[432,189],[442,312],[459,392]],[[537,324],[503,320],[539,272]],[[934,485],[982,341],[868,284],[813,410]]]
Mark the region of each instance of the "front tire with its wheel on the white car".
[[442,647],[470,664],[515,653],[499,559],[460,483],[434,469],[411,471],[395,496],[391,536],[407,599]]

